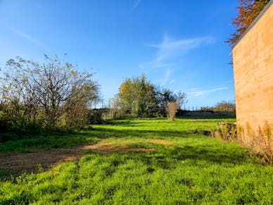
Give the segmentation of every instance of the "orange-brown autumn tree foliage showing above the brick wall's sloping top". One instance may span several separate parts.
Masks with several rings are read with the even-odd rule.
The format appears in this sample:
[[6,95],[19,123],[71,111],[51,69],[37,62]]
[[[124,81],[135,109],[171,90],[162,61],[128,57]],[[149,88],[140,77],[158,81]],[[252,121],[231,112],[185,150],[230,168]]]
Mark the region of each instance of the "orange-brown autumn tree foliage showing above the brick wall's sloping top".
[[234,45],[268,2],[269,0],[239,0],[238,15],[232,20],[236,31],[231,33],[227,43]]

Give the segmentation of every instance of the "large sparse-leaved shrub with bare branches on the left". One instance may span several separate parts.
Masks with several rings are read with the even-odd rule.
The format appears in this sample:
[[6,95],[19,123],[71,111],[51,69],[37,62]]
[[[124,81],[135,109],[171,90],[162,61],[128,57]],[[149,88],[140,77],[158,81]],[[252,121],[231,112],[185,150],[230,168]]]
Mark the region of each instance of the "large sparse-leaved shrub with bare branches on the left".
[[99,98],[99,85],[91,73],[78,72],[77,66],[60,61],[57,56],[45,55],[45,59],[42,64],[20,57],[9,60],[5,84],[1,85],[3,99],[8,106],[15,106],[17,113],[23,110],[26,119],[36,120],[39,116],[49,128],[61,123],[69,127],[83,123],[82,113]]

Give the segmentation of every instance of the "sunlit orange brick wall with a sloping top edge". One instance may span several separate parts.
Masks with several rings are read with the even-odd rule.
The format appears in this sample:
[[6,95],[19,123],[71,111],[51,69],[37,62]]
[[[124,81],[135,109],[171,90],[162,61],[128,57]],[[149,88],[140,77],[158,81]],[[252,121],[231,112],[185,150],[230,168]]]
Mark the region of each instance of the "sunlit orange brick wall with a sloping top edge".
[[[237,125],[246,130],[249,124],[258,135],[265,120],[273,123],[273,4],[234,46],[232,56]],[[243,135],[251,144],[254,136]],[[267,143],[273,150],[272,140]]]

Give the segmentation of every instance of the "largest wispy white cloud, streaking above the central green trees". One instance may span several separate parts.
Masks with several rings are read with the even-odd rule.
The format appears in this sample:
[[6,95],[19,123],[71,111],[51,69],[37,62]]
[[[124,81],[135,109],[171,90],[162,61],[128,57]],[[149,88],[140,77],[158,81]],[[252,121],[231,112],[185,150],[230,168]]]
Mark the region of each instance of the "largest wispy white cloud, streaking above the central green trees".
[[212,37],[170,39],[170,37],[164,35],[163,41],[160,44],[148,45],[157,49],[155,58],[149,62],[139,64],[139,67],[151,69],[170,66],[170,64],[175,63],[186,52],[203,45],[213,44],[214,42],[215,39]]

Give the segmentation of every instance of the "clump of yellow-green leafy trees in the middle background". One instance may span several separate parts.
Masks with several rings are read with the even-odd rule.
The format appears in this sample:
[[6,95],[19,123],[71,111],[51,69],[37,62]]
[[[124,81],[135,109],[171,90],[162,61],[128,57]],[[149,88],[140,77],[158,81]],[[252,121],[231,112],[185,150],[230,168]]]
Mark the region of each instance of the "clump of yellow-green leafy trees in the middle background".
[[113,99],[113,110],[120,110],[132,117],[167,116],[167,104],[177,101],[179,107],[186,103],[186,94],[152,85],[141,77],[126,78],[120,85],[118,96]]

